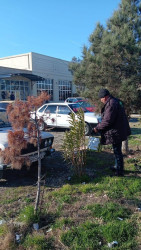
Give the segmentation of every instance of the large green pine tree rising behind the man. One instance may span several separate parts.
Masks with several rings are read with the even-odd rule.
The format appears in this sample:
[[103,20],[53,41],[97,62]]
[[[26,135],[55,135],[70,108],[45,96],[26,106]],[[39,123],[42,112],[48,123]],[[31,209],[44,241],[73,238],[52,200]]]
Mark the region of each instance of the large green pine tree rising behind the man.
[[[99,88],[106,87],[124,101],[128,115],[141,111],[141,6],[139,0],[122,0],[104,29],[98,24],[84,46],[82,60],[70,67],[74,82],[85,85],[94,102]],[[97,100],[98,101],[98,100]]]

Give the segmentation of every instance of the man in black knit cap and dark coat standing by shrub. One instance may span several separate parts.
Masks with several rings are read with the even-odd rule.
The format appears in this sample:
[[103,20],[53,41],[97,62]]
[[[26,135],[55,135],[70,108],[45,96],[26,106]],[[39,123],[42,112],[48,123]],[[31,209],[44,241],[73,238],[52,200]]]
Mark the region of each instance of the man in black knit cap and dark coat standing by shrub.
[[102,121],[94,128],[94,132],[100,132],[101,144],[112,144],[116,162],[113,170],[117,176],[123,176],[122,141],[131,134],[128,119],[122,102],[110,95],[107,89],[100,89],[99,98],[104,104]]

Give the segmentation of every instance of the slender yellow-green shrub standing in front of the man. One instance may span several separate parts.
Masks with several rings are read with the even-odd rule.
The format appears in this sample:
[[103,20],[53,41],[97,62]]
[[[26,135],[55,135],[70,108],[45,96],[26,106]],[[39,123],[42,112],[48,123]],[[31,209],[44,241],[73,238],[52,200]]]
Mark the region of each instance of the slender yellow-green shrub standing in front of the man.
[[70,114],[70,130],[65,133],[62,149],[64,158],[71,163],[75,175],[83,176],[86,164],[86,145],[82,109],[77,112],[77,119],[74,113]]

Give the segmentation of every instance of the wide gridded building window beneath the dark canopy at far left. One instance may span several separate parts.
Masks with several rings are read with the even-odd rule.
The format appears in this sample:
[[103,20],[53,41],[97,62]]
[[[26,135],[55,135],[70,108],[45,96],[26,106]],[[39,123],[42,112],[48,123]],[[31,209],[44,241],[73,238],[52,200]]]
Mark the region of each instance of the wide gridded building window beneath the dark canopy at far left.
[[25,81],[0,80],[0,99],[10,100],[11,94],[15,99],[26,100],[29,96],[29,83]]

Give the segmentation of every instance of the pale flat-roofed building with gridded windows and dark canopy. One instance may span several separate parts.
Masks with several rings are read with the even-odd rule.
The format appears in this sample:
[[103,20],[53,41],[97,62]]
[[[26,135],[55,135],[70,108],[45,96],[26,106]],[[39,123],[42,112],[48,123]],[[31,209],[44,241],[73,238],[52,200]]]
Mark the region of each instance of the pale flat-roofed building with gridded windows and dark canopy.
[[30,52],[0,58],[0,100],[26,100],[47,91],[51,101],[64,101],[76,92],[68,61]]

